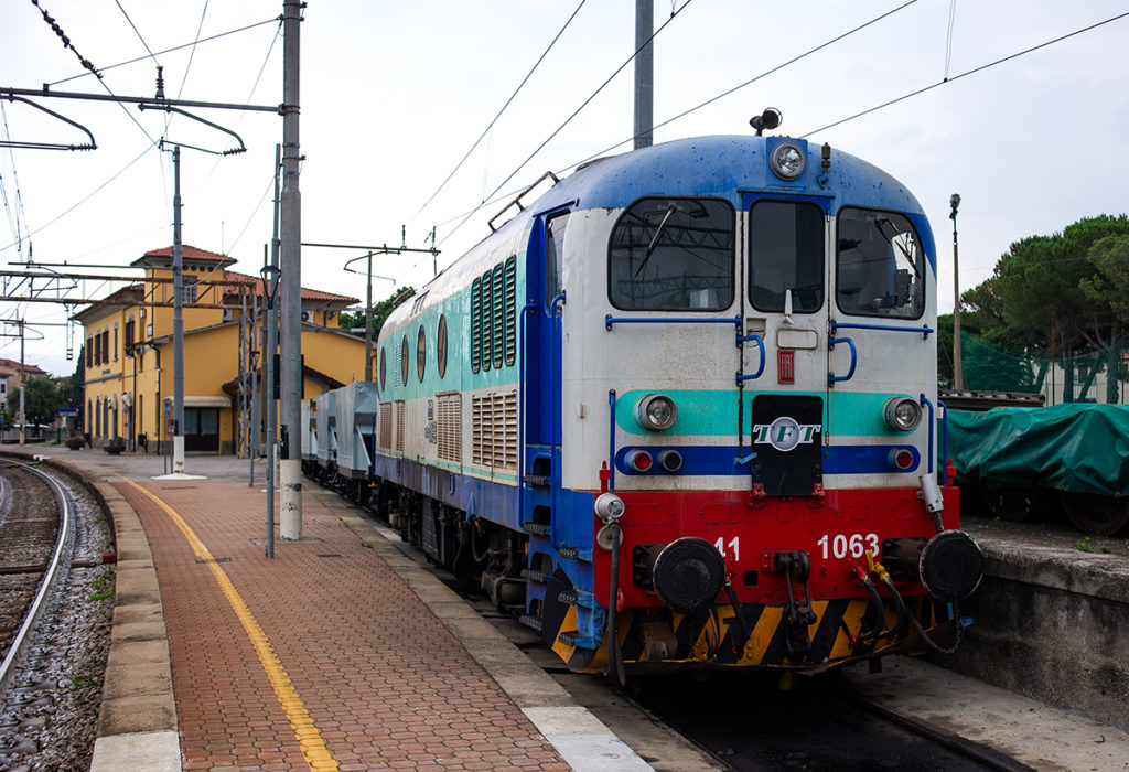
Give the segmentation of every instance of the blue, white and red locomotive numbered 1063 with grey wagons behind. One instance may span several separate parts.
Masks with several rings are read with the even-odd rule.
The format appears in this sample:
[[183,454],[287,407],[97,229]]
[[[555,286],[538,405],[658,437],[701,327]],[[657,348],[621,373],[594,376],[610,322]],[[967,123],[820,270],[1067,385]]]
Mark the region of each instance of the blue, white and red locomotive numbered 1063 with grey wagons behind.
[[878,669],[971,622],[928,219],[754,126],[546,174],[303,406],[308,476],[575,672]]

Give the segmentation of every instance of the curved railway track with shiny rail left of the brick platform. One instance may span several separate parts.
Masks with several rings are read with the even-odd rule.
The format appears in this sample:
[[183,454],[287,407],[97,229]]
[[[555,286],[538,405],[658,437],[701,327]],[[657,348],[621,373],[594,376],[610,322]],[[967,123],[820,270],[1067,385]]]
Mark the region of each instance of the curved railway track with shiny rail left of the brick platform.
[[0,695],[70,561],[73,515],[65,490],[28,464],[0,459]]

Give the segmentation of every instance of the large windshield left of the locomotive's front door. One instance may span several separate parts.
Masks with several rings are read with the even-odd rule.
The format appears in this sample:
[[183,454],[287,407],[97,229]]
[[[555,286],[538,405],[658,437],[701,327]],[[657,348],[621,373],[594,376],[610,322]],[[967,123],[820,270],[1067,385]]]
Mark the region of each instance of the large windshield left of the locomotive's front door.
[[734,209],[719,199],[641,199],[612,229],[607,293],[633,310],[733,304]]

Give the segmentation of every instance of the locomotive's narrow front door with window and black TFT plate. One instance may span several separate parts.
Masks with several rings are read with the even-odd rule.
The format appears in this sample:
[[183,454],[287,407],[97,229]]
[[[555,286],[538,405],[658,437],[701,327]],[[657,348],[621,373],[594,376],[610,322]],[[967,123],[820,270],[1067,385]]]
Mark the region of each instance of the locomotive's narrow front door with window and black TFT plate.
[[758,493],[811,495],[823,485],[829,201],[746,194],[743,204],[743,453]]

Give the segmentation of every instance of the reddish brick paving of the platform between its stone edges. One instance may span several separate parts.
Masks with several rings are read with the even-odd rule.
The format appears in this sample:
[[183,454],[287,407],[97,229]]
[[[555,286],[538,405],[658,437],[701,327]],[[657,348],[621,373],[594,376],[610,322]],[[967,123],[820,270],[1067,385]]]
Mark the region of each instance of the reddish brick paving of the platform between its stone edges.
[[[168,628],[183,769],[567,770],[498,683],[355,527],[310,493],[303,541],[275,542],[257,488],[114,486],[138,511]],[[254,616],[308,722],[283,709],[216,569]],[[324,754],[304,753],[316,735]],[[301,742],[299,742],[301,737]]]

